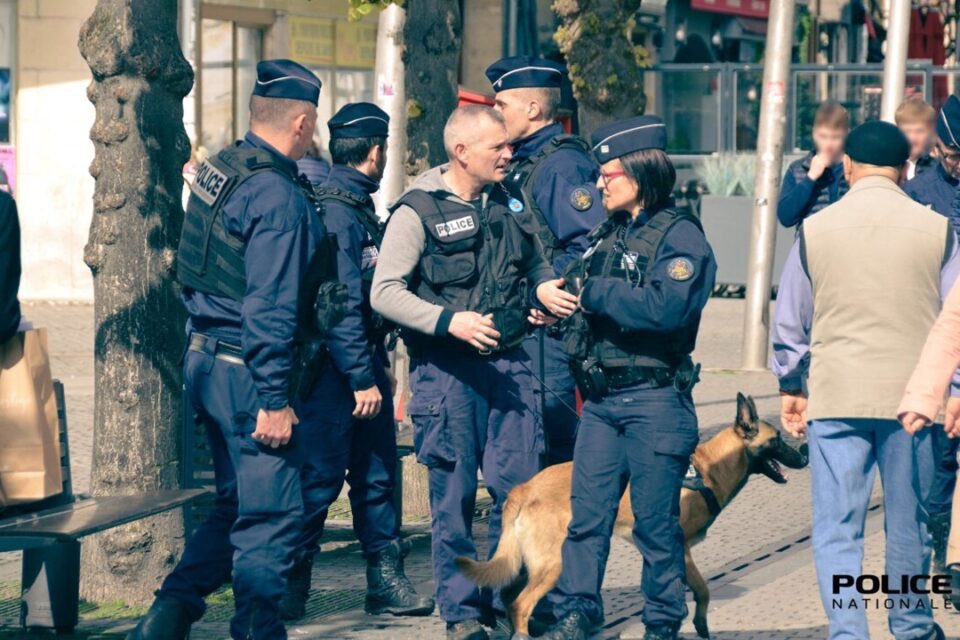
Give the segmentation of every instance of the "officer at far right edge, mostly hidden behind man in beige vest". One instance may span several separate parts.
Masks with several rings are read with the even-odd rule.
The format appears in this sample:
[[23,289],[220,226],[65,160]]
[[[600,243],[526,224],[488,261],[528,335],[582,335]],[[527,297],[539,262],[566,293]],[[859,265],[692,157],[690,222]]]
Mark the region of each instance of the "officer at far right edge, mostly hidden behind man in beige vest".
[[[950,96],[937,117],[937,166],[907,181],[903,190],[908,196],[927,205],[950,220],[955,231],[960,231],[960,211],[957,210],[957,187],[960,185],[960,99]],[[947,538],[950,535],[950,514],[953,489],[957,482],[957,444],[960,440],[948,438],[943,429],[933,429],[936,475],[927,502],[930,514],[928,526],[933,537],[933,559],[938,573],[945,571]]]

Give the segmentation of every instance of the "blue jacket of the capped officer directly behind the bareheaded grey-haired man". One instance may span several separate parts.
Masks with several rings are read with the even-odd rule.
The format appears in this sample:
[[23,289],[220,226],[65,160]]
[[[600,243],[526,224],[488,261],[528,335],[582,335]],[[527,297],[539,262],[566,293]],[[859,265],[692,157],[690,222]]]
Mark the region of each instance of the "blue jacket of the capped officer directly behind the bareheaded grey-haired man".
[[[514,160],[520,162],[536,155],[544,145],[562,134],[560,124],[540,129],[514,145]],[[557,255],[553,264],[554,271],[561,274],[572,260],[587,250],[590,230],[606,219],[597,191],[600,168],[593,158],[575,149],[556,151],[543,163],[530,187],[547,225],[563,247],[563,253]],[[573,204],[578,189],[586,189],[592,199],[584,211]]]

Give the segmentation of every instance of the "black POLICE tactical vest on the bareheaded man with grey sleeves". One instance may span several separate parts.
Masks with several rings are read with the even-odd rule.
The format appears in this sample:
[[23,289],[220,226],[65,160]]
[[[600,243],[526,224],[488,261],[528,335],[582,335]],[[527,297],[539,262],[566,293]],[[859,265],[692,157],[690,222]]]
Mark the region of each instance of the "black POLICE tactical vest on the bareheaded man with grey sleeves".
[[[419,298],[454,311],[493,314],[500,332],[496,351],[523,342],[530,308],[529,288],[522,265],[532,259],[536,244],[531,230],[506,205],[494,199],[482,210],[469,204],[433,197],[414,189],[391,211],[406,205],[420,217],[426,247],[410,290]],[[436,338],[405,332],[416,349],[436,345]],[[457,347],[460,340],[450,339]]]

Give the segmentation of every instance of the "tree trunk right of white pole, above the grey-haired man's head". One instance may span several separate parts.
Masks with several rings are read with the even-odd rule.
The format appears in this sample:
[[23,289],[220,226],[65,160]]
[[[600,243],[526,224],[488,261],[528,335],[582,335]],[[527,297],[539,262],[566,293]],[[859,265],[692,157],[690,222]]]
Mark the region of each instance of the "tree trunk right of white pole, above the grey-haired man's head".
[[463,24],[450,0],[409,0],[403,30],[407,96],[407,175],[447,161],[443,124],[457,107]]

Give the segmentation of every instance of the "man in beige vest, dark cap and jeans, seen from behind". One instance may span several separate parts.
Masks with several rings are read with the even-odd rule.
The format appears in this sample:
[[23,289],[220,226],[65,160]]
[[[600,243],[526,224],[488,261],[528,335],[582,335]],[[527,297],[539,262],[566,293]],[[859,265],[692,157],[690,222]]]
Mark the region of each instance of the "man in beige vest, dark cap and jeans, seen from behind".
[[[933,478],[931,441],[926,430],[911,437],[900,427],[897,405],[960,257],[947,219],[897,186],[908,155],[892,124],[851,132],[850,192],[804,222],[777,298],[772,368],[784,429],[810,442],[813,552],[830,640],[868,638],[865,606],[887,608],[886,595],[854,586],[877,469],[889,583],[930,567],[922,505]],[[944,638],[928,596],[890,603],[897,640]]]

